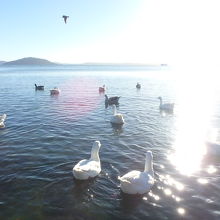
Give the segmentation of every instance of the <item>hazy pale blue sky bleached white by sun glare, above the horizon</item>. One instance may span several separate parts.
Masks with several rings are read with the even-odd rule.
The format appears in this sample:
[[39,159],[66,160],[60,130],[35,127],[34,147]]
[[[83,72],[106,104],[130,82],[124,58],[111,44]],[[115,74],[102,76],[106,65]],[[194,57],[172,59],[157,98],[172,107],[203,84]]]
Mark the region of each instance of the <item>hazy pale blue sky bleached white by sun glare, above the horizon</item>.
[[0,0],[0,60],[217,63],[219,22],[219,0]]

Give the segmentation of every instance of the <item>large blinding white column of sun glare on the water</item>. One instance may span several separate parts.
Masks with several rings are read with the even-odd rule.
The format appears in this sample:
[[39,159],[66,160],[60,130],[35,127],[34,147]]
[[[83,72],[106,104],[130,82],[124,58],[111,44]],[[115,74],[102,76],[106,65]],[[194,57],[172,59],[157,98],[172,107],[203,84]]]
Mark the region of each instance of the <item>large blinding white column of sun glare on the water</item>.
[[206,154],[205,140],[213,112],[213,90],[202,77],[182,77],[177,79],[176,84],[176,135],[174,153],[168,159],[180,173],[190,176],[200,170]]

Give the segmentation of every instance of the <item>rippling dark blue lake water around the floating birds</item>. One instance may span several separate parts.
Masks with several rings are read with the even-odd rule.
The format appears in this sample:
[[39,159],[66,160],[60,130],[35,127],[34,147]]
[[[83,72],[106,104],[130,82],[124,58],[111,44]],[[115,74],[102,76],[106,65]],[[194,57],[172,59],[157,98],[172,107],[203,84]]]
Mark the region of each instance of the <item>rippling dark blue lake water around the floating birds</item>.
[[[207,81],[207,79],[209,79]],[[140,82],[142,88],[135,85]],[[44,85],[35,91],[34,84]],[[110,124],[104,94],[121,96],[122,128]],[[58,96],[49,90],[57,86]],[[158,96],[174,102],[159,111]],[[216,80],[160,69],[0,68],[0,219],[220,219],[220,142]],[[102,171],[76,181],[73,166],[99,140]],[[156,182],[143,196],[121,193],[118,176],[154,156]]]

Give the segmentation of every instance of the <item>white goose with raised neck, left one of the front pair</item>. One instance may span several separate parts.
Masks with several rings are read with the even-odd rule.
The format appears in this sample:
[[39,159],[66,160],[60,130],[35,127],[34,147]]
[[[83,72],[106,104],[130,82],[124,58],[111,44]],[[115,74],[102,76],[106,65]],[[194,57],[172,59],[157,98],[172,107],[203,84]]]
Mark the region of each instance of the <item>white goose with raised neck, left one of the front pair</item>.
[[91,157],[89,160],[81,160],[73,167],[73,175],[76,179],[87,180],[95,177],[101,172],[99,159],[99,149],[101,143],[95,141],[92,146]]

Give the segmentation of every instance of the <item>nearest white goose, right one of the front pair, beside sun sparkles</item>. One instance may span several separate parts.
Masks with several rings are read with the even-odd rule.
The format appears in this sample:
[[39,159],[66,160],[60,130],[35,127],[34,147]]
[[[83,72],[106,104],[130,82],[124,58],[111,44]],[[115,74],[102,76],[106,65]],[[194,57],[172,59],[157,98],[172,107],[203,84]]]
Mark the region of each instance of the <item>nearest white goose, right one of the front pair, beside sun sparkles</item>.
[[153,155],[151,151],[146,153],[144,172],[137,170],[130,171],[122,177],[121,190],[127,194],[143,194],[150,191],[154,184]]

